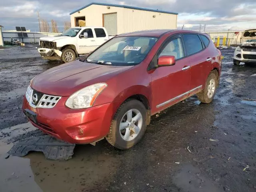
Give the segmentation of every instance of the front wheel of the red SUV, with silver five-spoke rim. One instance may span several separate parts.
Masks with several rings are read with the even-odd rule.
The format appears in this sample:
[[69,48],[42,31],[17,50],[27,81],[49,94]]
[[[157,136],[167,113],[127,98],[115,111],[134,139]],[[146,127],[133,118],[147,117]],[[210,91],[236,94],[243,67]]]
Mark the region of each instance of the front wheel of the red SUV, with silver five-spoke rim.
[[146,131],[147,111],[138,100],[127,100],[117,110],[106,139],[118,149],[137,144]]

